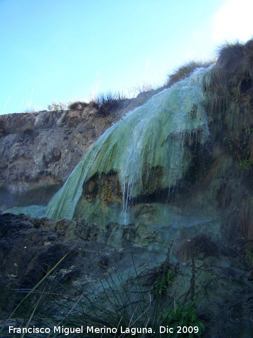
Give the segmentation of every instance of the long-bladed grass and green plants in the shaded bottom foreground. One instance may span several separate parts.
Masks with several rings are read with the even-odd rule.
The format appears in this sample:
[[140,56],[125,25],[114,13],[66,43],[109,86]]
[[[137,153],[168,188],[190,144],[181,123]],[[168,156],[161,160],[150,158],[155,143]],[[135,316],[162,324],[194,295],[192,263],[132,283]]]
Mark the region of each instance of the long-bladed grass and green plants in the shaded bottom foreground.
[[[174,328],[176,337],[201,337],[204,325],[198,319],[195,312],[195,301],[192,300],[190,290],[181,296],[178,301],[170,295],[170,285],[173,283],[172,275],[177,275],[177,268],[169,262],[169,255],[173,241],[168,247],[167,257],[160,268],[146,275],[138,275],[133,260],[135,277],[130,277],[126,282],[116,269],[103,273],[97,286],[91,277],[87,277],[84,284],[78,286],[64,286],[57,282],[57,270],[67,253],[45,276],[31,289],[22,290],[8,299],[5,292],[1,292],[1,305],[5,304],[5,310],[10,309],[11,314],[2,321],[1,334],[8,334],[8,326],[19,322],[20,327],[80,327],[83,325],[94,328],[112,329],[117,332],[103,333],[97,336],[104,337],[132,337],[136,328],[151,328],[152,332],[138,332],[136,337],[160,337],[159,326]],[[98,262],[99,264],[99,262]],[[62,271],[62,270],[61,270]],[[172,271],[171,274],[169,274]],[[170,276],[163,278],[164,276]],[[152,285],[147,288],[145,280],[152,280]],[[195,279],[195,277],[194,277]],[[143,283],[144,282],[144,283]],[[100,285],[99,285],[100,284]],[[67,296],[71,295],[71,297]],[[14,309],[14,310],[13,310]],[[176,333],[177,326],[190,327],[187,332],[181,330]],[[124,334],[120,327],[123,328]],[[126,330],[129,328],[129,331]],[[155,333],[154,333],[155,332]],[[102,334],[103,333],[103,334]],[[22,337],[24,335],[21,335]],[[25,334],[25,337],[43,337],[43,334]],[[63,337],[62,334],[52,333],[53,337]],[[69,333],[69,337],[76,336]],[[83,337],[90,337],[91,333],[84,332]]]

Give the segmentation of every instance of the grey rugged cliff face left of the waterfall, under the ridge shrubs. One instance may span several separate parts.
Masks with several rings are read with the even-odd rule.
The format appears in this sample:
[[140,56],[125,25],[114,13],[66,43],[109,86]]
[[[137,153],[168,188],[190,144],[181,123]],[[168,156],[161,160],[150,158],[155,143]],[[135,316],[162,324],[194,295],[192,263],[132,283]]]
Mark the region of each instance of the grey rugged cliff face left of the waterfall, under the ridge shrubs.
[[124,100],[107,118],[89,106],[0,116],[0,210],[46,205],[101,134],[154,94]]

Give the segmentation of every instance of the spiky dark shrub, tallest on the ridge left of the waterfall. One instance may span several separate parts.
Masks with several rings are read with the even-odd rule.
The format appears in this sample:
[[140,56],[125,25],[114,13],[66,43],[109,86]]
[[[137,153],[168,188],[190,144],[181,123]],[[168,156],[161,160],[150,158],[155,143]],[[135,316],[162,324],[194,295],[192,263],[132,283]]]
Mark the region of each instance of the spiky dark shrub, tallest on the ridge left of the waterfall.
[[92,102],[93,108],[96,108],[104,117],[109,116],[111,111],[116,110],[120,102],[125,99],[124,95],[120,92],[112,93],[108,91],[105,94],[100,94]]

